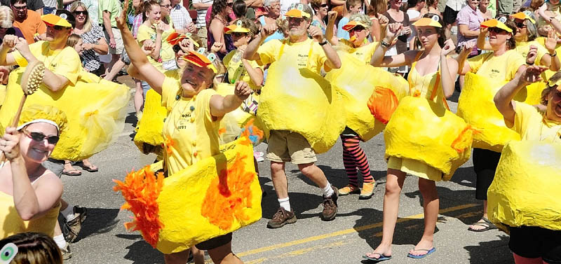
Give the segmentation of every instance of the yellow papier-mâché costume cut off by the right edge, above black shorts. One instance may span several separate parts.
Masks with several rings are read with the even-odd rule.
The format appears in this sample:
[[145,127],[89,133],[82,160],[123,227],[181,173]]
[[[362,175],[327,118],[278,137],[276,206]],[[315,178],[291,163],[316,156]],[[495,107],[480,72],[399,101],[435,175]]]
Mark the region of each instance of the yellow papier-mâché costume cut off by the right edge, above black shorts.
[[510,141],[487,191],[489,220],[561,230],[561,144]]

